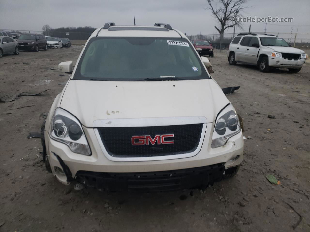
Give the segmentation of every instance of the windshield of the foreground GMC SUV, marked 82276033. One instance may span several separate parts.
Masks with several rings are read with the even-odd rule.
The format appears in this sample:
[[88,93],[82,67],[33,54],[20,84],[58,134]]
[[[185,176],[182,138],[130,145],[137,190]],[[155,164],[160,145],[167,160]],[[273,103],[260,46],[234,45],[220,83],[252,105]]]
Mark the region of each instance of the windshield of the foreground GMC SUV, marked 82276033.
[[73,79],[207,79],[202,65],[184,38],[94,37],[86,45]]

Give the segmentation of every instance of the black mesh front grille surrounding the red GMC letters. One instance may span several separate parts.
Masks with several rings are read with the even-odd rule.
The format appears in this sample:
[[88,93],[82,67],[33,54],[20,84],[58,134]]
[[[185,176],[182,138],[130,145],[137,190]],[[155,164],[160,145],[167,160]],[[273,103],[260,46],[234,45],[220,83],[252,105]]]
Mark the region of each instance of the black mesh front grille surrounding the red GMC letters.
[[[198,147],[203,124],[158,127],[101,127],[98,132],[113,157],[152,157],[190,153]],[[173,144],[132,145],[132,136],[174,134]]]

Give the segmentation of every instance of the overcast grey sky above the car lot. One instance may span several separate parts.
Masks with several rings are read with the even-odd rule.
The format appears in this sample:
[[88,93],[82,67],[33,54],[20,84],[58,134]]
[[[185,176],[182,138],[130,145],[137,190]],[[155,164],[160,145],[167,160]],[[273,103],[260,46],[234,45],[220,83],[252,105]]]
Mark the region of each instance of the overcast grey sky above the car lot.
[[[217,22],[210,10],[205,10],[207,6],[206,0],[0,0],[0,29],[41,30],[44,24],[52,28],[98,28],[108,21],[114,21],[117,25],[132,25],[135,16],[137,25],[165,22],[188,35],[217,33],[214,28]],[[248,8],[242,12],[243,16],[294,18],[294,23],[267,24],[268,32],[291,31],[290,27],[279,26],[282,24],[310,24],[310,0],[248,0],[246,6]],[[245,31],[250,24],[253,32],[263,32],[265,29],[263,23],[243,23]],[[296,30],[297,27],[293,27],[293,32]],[[226,32],[232,31],[229,29]],[[299,27],[298,31],[310,33],[310,26]]]

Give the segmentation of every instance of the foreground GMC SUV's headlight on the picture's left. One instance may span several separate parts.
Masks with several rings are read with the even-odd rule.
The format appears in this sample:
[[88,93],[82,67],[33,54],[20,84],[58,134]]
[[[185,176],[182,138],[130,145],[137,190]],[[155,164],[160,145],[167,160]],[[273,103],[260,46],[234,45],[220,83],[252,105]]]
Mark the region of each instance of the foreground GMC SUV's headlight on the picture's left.
[[61,108],[57,108],[53,115],[50,136],[54,140],[67,144],[74,153],[91,155],[91,149],[80,122]]

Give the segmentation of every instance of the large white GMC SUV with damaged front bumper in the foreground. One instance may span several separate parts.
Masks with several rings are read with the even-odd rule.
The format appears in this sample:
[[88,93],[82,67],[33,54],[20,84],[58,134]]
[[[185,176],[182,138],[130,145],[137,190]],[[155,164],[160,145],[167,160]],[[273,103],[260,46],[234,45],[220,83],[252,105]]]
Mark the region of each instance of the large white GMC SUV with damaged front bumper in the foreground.
[[110,191],[204,188],[234,175],[240,122],[204,62],[169,24],[97,29],[42,125],[47,169]]

